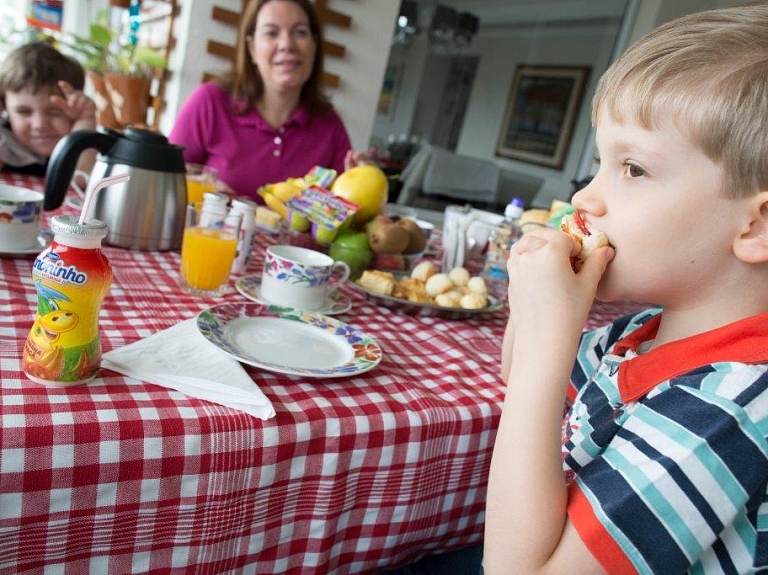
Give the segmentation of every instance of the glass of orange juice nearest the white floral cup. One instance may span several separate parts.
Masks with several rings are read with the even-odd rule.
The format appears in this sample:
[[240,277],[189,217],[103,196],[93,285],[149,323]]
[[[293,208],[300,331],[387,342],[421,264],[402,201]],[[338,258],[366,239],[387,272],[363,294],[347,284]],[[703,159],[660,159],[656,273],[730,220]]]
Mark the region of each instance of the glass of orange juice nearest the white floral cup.
[[214,212],[208,206],[204,209],[202,202],[187,205],[181,242],[181,291],[199,297],[226,293],[242,225],[242,212]]

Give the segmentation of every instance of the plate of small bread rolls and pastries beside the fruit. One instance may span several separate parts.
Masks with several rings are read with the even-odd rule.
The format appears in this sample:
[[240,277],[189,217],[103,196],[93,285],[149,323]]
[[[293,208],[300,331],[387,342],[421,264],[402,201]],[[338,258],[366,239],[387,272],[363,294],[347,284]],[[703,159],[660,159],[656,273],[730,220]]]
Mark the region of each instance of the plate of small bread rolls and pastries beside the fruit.
[[463,267],[442,273],[429,261],[409,274],[366,270],[350,285],[378,305],[411,315],[463,319],[503,307],[481,276]]

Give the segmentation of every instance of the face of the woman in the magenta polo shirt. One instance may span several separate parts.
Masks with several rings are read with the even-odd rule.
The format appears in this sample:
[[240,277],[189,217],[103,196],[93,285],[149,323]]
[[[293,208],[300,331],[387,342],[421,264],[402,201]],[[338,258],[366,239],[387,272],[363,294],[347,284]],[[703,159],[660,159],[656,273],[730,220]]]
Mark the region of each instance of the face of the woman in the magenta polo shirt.
[[312,74],[317,45],[302,8],[272,0],[259,11],[248,49],[266,91],[293,92],[301,91]]

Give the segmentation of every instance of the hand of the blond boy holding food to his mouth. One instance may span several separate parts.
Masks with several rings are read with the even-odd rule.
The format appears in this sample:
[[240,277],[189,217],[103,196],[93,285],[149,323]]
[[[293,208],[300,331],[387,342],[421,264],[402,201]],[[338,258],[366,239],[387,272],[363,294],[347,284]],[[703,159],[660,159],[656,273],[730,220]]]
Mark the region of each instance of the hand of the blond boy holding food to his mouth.
[[600,248],[574,273],[571,257],[578,251],[566,234],[549,228],[529,232],[514,244],[507,269],[517,337],[527,333],[554,345],[557,332],[581,332],[614,252]]

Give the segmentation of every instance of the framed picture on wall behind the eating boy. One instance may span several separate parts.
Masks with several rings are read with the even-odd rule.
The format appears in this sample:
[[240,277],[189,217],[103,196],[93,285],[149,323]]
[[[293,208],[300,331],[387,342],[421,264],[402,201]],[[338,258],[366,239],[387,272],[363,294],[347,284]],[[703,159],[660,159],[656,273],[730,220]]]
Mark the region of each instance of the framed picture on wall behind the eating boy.
[[562,168],[590,70],[585,66],[518,66],[496,155]]

